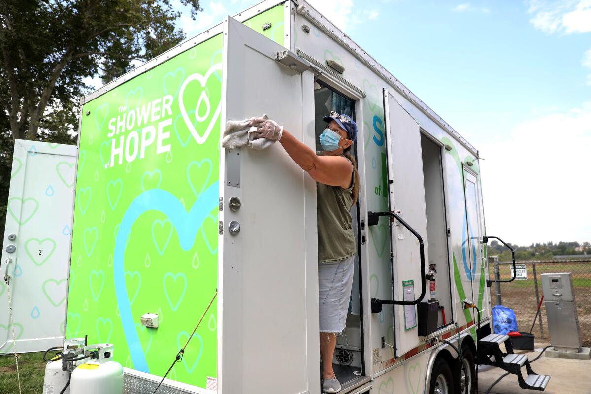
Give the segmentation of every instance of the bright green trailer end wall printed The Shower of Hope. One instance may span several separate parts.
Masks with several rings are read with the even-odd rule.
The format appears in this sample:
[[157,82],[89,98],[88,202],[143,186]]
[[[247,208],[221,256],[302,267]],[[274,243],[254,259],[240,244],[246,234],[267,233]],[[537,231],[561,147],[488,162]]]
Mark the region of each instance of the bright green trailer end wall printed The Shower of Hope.
[[[282,5],[247,25],[283,43]],[[262,26],[271,22],[271,28]],[[66,337],[163,376],[217,287],[222,35],[82,111]],[[158,314],[158,328],[140,317]],[[217,302],[169,379],[216,377]]]

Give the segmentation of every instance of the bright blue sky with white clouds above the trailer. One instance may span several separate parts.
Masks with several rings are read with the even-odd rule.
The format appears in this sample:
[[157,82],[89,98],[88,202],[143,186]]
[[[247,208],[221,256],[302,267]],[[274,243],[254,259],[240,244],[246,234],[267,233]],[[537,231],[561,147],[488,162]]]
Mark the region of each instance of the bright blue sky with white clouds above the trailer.
[[[191,37],[256,0],[202,1]],[[591,0],[311,0],[479,150],[486,233],[591,242]]]

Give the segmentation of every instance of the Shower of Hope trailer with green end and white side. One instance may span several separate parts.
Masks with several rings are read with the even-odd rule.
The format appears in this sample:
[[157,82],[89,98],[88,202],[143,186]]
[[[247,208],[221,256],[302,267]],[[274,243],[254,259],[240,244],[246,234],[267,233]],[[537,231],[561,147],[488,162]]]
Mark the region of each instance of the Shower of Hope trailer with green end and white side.
[[330,110],[359,125],[342,392],[473,393],[477,347],[543,389],[491,334],[478,151],[301,0],[227,17],[82,98],[66,336],[115,344],[125,392],[151,393],[217,291],[159,390],[319,393],[316,185],[281,146],[219,141],[267,113],[314,148]]

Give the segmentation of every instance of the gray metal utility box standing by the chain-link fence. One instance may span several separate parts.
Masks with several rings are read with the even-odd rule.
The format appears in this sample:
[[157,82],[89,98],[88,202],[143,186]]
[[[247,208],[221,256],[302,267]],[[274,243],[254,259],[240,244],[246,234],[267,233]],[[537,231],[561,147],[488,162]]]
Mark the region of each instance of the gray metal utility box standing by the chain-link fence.
[[571,273],[543,273],[542,289],[550,344],[554,350],[580,351],[582,341]]

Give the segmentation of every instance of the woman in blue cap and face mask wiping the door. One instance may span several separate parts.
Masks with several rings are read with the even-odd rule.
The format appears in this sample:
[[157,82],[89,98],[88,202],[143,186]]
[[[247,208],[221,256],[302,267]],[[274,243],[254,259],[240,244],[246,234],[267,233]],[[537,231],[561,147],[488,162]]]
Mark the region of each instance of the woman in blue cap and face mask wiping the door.
[[336,337],[345,329],[356,252],[350,210],[359,195],[359,174],[350,151],[357,126],[349,116],[336,112],[323,121],[328,123],[320,135],[323,152],[314,152],[277,122],[252,118],[252,125],[261,137],[281,142],[293,161],[317,182],[322,389],[336,393],[340,383],[332,360]]

